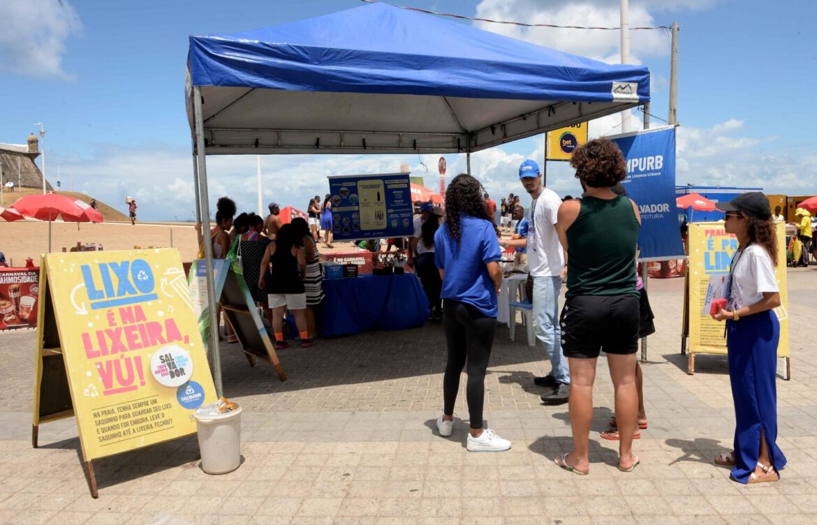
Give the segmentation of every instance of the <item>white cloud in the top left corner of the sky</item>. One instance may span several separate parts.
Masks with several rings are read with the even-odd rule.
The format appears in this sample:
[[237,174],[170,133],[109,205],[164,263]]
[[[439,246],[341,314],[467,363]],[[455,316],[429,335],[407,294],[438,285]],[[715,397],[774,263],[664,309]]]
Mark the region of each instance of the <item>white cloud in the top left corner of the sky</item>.
[[0,71],[70,78],[62,69],[65,41],[82,24],[67,0],[0,2]]

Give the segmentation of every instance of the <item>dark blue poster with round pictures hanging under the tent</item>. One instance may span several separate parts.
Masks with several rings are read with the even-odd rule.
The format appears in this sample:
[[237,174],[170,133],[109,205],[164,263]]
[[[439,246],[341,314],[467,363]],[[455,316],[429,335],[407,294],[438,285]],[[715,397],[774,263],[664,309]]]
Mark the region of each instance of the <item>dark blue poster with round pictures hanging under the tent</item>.
[[408,173],[329,177],[336,241],[414,233]]

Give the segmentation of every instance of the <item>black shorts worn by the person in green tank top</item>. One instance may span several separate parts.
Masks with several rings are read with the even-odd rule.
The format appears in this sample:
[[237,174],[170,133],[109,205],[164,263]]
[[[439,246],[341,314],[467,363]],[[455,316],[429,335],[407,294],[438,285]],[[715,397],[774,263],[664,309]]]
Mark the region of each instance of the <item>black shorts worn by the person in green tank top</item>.
[[573,296],[560,317],[562,353],[568,358],[635,354],[641,317],[638,296]]

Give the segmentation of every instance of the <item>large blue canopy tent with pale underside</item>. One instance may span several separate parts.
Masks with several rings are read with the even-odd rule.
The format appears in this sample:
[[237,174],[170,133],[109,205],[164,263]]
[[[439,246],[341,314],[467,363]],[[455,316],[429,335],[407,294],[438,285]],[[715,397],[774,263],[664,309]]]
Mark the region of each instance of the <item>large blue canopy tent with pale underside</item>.
[[186,94],[208,217],[208,154],[467,153],[470,168],[471,152],[649,101],[650,72],[373,3],[190,37]]

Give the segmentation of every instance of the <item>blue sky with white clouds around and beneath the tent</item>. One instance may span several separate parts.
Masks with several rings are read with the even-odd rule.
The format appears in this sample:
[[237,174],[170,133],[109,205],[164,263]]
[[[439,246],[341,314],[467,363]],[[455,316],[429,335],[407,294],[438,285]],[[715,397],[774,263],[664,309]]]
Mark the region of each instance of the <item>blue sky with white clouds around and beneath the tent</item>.
[[[618,0],[411,1],[468,16],[554,24],[618,25]],[[678,120],[680,184],[759,185],[767,193],[817,194],[817,139],[811,104],[817,38],[806,24],[817,7],[789,0],[785,9],[760,0],[631,0],[631,24],[681,26]],[[34,122],[47,130],[47,176],[62,188],[124,209],[141,200],[145,219],[193,214],[190,131],[184,74],[190,34],[234,33],[362,5],[359,0],[243,2],[3,2],[0,19],[0,142],[24,143]],[[466,22],[467,23],[467,22]],[[475,23],[562,51],[618,60],[618,32],[519,29]],[[653,75],[651,112],[667,118],[669,38],[632,32],[632,59]],[[640,118],[640,114],[638,115]],[[620,131],[616,118],[591,123],[592,135]],[[659,121],[654,120],[654,124]],[[464,158],[446,156],[449,173]],[[542,158],[542,137],[475,154],[476,176],[493,194],[517,193],[515,172]],[[408,163],[437,187],[436,156],[275,156],[262,161],[264,200],[303,209],[323,194],[325,176],[395,171]],[[213,199],[230,194],[255,209],[255,158],[208,160]],[[578,186],[565,163],[549,165],[560,194]]]

